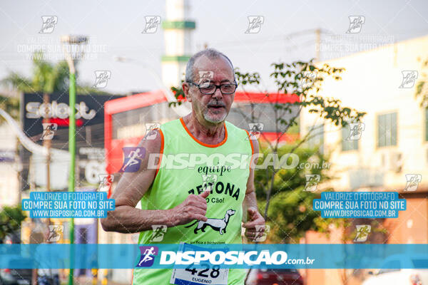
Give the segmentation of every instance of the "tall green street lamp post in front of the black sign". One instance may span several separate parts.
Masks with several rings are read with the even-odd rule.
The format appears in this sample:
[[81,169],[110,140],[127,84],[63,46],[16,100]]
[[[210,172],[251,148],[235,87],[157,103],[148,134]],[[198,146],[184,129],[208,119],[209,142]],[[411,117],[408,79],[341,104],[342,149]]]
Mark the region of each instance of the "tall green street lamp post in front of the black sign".
[[[83,56],[83,45],[88,42],[86,36],[62,36],[61,43],[70,70],[70,113],[68,115],[68,152],[70,152],[70,171],[68,175],[68,192],[74,192],[74,172],[76,167],[76,61]],[[70,244],[74,243],[74,218],[70,219]],[[68,285],[73,285],[74,252],[71,247],[70,271]]]

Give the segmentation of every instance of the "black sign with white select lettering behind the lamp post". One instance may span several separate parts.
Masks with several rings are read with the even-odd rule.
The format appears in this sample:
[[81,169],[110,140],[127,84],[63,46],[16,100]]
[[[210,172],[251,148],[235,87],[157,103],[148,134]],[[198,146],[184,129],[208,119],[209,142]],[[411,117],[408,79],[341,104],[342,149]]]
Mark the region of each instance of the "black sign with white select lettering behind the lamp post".
[[[76,96],[76,159],[80,181],[92,184],[98,180],[98,174],[105,172],[102,165],[104,147],[104,103],[121,98],[118,95],[77,95]],[[49,103],[43,103],[43,95],[26,93],[21,98],[21,121],[24,133],[34,142],[42,144],[44,118],[56,123],[51,147],[68,151],[68,93],[51,94]],[[23,164],[21,170],[21,190],[29,189],[29,167],[31,153],[20,147]],[[33,161],[34,163],[34,161]],[[52,171],[52,170],[51,170]],[[55,170],[54,170],[55,171]],[[88,179],[88,177],[90,179]],[[37,182],[35,182],[35,186]],[[43,185],[41,185],[43,187]],[[53,189],[53,190],[66,190]]]

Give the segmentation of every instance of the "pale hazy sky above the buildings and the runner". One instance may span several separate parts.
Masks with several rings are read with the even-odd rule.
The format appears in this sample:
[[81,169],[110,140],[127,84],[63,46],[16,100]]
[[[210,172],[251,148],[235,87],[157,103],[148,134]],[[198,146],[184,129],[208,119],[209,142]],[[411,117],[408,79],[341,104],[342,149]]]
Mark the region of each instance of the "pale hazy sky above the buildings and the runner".
[[[347,56],[385,43],[428,34],[428,1],[198,1],[190,0],[196,22],[192,53],[206,44],[225,53],[235,67],[259,72],[263,88],[273,90],[271,63]],[[52,33],[39,33],[42,16],[56,16]],[[60,36],[90,38],[87,57],[78,64],[78,81],[95,83],[95,71],[111,71],[106,90],[130,93],[160,88],[163,30],[142,33],[145,16],[165,19],[165,1],[2,1],[0,4],[0,78],[14,71],[31,74],[31,51],[46,48],[46,59],[63,59]],[[248,16],[263,16],[258,33],[245,33]],[[362,16],[359,33],[346,33],[350,16]],[[114,61],[115,56],[133,59]],[[150,69],[150,71],[148,71]]]

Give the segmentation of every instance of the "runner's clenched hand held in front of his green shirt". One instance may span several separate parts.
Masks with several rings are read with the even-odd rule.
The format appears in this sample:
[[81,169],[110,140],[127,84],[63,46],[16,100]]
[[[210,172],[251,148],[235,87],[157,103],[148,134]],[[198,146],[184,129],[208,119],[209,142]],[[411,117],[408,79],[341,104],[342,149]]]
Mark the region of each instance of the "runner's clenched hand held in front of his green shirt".
[[188,224],[194,219],[206,222],[207,201],[205,198],[208,195],[210,195],[210,191],[204,191],[200,195],[189,195],[183,203],[171,209],[174,225]]

